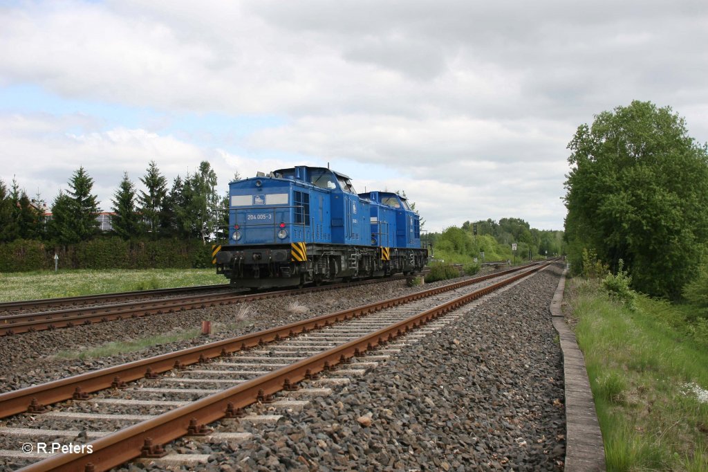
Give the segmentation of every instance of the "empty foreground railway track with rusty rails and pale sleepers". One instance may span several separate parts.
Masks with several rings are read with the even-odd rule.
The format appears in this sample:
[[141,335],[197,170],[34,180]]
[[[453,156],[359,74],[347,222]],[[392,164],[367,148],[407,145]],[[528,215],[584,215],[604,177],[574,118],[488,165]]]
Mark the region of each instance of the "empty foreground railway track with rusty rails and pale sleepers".
[[[209,422],[222,417],[239,417],[241,409],[259,401],[268,402],[270,395],[295,388],[295,384],[304,378],[313,378],[337,364],[350,365],[353,362],[352,369],[357,367],[356,364],[365,367],[365,362],[357,360],[365,352],[546,265],[525,266],[520,268],[523,269],[520,274],[505,274],[506,279],[483,288],[476,284],[500,275],[479,277],[5,393],[0,395],[0,417],[28,412],[40,418],[40,423],[30,420],[34,431],[28,433],[18,426],[28,417],[24,415],[9,422],[13,427],[0,429],[0,436],[11,437],[11,441],[21,444],[27,442],[28,437],[36,440],[41,434],[55,438],[78,434],[77,429],[45,433],[55,429],[52,428],[52,417],[72,417],[79,429],[86,428],[88,420],[113,425],[113,429],[117,424],[131,424],[117,432],[94,427],[93,432],[86,434],[88,439],[99,438],[91,443],[91,454],[84,451],[84,454],[52,456],[28,466],[28,471],[107,470],[141,454],[159,456],[161,444],[185,434],[207,434],[205,425]],[[137,382],[126,385],[129,381]],[[98,396],[103,398],[89,400],[88,393],[111,387],[115,393],[110,397],[100,393]],[[199,399],[189,401],[195,397]],[[69,411],[52,409],[40,414],[45,405],[69,398],[74,398],[64,407]],[[111,414],[100,412],[100,406],[99,412],[93,411],[94,405],[104,405],[103,408],[110,405]],[[115,410],[126,405],[144,408],[144,414],[115,414]],[[1,451],[0,455],[11,453]]]

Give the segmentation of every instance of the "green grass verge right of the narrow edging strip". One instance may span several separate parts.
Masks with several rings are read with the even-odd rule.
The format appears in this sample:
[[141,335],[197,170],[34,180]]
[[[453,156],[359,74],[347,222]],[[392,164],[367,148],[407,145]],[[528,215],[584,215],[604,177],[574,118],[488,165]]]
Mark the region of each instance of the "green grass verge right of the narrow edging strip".
[[[687,307],[639,296],[631,311],[593,281],[566,288],[609,471],[708,470],[708,349]],[[700,391],[700,390],[699,390]]]

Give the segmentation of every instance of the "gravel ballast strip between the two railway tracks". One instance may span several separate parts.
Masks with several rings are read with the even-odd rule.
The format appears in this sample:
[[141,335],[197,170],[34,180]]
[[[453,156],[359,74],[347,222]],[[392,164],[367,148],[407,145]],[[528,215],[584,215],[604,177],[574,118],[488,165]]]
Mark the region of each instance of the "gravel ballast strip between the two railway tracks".
[[[0,359],[3,359],[0,364],[0,393],[207,342],[246,335],[464,279],[469,277],[418,287],[407,287],[405,281],[401,280],[384,281],[214,308],[4,336],[0,337]],[[110,342],[130,342],[154,335],[196,330],[200,328],[202,320],[212,321],[215,331],[212,335],[157,344],[139,352],[125,352],[98,359],[65,359],[57,356],[59,353],[83,352]]]

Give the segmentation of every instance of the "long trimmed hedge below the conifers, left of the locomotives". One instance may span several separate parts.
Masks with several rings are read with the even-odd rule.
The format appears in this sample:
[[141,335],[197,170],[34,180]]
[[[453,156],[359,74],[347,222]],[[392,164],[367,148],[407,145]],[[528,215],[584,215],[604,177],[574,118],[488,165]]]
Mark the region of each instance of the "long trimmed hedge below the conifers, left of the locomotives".
[[200,240],[131,240],[98,237],[76,245],[54,246],[35,240],[0,244],[0,271],[54,269],[189,269],[211,266],[211,246]]

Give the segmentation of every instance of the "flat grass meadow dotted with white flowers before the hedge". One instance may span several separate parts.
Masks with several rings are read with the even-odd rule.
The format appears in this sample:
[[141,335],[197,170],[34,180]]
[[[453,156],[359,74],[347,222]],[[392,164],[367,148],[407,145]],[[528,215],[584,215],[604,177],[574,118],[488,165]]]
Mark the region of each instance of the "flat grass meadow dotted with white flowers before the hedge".
[[60,270],[0,274],[0,301],[227,283],[215,269]]

